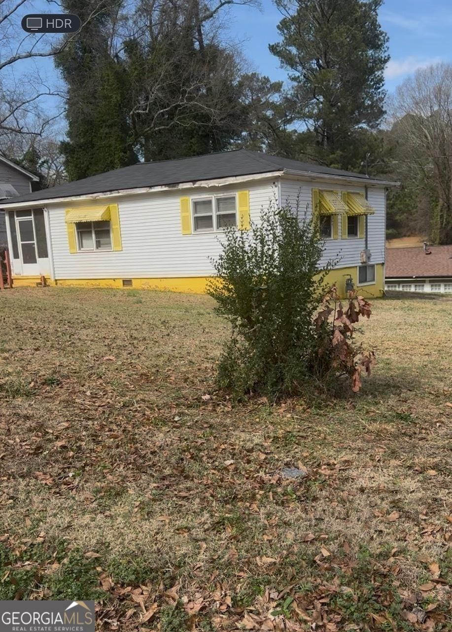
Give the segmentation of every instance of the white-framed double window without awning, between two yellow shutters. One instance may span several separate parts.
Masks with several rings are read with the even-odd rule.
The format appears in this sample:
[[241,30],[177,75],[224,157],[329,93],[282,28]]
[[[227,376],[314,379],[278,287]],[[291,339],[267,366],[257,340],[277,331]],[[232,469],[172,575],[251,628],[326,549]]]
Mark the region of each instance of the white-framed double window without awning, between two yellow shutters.
[[236,195],[212,195],[191,200],[193,231],[208,233],[237,226]]

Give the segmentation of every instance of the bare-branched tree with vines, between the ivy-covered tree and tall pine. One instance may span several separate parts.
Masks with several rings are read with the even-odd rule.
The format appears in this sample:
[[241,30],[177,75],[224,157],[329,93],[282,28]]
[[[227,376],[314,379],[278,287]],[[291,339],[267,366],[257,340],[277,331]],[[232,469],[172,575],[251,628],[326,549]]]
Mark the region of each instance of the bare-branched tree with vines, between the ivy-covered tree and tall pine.
[[232,130],[234,121],[239,128],[242,104],[232,93],[242,69],[221,42],[219,21],[233,4],[259,6],[257,0],[138,3],[124,50],[133,68],[129,118],[145,160],[152,157],[152,135],[165,130]]

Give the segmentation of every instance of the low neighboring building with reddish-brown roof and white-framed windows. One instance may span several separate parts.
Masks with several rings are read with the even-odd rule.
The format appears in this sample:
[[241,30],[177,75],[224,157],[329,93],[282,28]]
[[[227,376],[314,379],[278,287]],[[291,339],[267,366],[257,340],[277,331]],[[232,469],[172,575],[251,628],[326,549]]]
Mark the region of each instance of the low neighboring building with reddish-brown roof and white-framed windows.
[[452,294],[452,245],[386,250],[384,287]]

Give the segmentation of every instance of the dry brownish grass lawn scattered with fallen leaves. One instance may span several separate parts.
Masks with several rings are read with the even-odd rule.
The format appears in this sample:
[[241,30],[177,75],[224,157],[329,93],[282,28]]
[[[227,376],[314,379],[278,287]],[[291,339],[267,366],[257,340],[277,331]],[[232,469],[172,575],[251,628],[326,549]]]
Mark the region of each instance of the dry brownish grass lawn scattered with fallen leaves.
[[452,300],[374,301],[374,374],[316,407],[218,394],[212,308],[1,293],[0,599],[95,599],[99,630],[451,630]]

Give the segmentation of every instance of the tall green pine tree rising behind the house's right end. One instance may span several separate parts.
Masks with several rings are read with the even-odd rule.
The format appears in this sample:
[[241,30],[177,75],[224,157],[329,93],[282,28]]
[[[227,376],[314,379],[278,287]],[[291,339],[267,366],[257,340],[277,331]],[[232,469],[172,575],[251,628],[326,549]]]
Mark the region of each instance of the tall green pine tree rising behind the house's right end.
[[304,154],[356,168],[350,147],[366,157],[366,147],[356,140],[366,140],[362,130],[375,130],[384,114],[389,56],[388,37],[378,22],[383,0],[275,1],[285,17],[278,25],[282,39],[270,51],[289,71],[297,119],[307,126],[300,138]]

